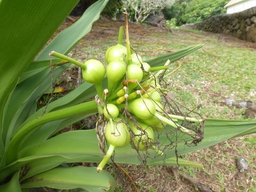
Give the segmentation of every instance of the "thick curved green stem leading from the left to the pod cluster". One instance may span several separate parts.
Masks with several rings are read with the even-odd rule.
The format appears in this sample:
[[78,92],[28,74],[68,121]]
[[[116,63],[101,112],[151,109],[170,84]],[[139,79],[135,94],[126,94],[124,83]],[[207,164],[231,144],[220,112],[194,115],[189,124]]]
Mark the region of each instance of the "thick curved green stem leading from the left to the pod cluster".
[[26,135],[29,134],[31,131],[38,129],[38,127],[41,127],[48,122],[83,114],[94,113],[95,111],[97,111],[97,105],[95,101],[88,101],[76,106],[47,113],[42,117],[37,117],[29,121],[27,124],[23,125],[17,133],[14,134],[12,140],[10,141],[9,147],[6,151],[5,165],[10,164],[15,161],[15,159],[17,159],[17,154],[20,150],[19,146],[22,143],[22,139],[25,138]]

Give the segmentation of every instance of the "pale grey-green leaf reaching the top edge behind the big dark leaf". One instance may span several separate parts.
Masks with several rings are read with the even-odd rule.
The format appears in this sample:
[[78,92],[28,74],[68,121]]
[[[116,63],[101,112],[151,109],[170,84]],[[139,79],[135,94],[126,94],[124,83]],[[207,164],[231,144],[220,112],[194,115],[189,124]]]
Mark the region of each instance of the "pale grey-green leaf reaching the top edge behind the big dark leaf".
[[67,54],[84,35],[89,33],[92,28],[92,23],[99,19],[100,13],[107,3],[108,0],[100,0],[92,4],[90,9],[87,9],[78,21],[63,30],[45,47],[37,60],[49,58],[51,51]]

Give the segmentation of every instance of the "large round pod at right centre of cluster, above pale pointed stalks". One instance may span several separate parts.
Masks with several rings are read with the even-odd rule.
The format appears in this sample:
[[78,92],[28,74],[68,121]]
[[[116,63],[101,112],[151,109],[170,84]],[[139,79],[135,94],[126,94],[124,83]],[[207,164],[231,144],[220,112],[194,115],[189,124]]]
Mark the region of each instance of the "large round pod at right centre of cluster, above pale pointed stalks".
[[151,100],[139,98],[128,104],[128,110],[140,119],[149,119],[155,114],[156,107]]

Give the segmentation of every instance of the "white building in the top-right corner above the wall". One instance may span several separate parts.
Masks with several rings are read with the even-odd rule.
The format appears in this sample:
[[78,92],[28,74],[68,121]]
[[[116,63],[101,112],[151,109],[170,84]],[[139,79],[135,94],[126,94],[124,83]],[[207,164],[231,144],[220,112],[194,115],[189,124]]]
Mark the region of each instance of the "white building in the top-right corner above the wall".
[[227,7],[227,13],[236,13],[254,6],[256,6],[256,0],[231,0],[224,7]]

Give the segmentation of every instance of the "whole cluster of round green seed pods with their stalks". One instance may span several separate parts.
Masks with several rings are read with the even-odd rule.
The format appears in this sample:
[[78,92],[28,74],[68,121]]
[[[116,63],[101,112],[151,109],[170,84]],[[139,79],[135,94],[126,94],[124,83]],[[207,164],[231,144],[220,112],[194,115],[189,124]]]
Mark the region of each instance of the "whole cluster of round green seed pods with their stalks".
[[[98,105],[99,114],[104,115],[108,121],[104,134],[109,147],[97,167],[98,172],[113,155],[115,147],[124,147],[129,143],[137,150],[154,150],[163,155],[161,149],[153,144],[154,132],[163,130],[167,124],[184,133],[194,134],[177,124],[177,119],[184,120],[185,117],[166,114],[162,106],[163,92],[153,71],[167,69],[167,66],[151,67],[147,62],[143,62],[140,55],[131,49],[127,25],[125,32],[126,46],[122,45],[121,27],[117,45],[109,47],[106,51],[106,69],[102,62],[95,59],[81,63],[57,52],[51,52],[54,57],[81,67],[84,81],[94,84],[101,100]],[[106,75],[108,85],[103,91],[102,81]],[[190,118],[190,121],[202,120]]]

